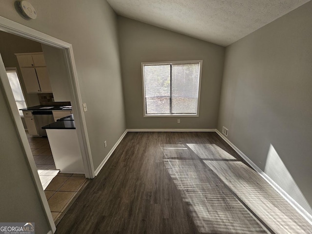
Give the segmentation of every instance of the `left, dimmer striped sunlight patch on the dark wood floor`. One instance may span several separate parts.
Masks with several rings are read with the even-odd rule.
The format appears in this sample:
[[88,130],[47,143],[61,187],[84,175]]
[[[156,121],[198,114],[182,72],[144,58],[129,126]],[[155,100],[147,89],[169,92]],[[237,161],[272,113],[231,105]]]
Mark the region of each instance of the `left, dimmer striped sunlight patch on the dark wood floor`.
[[[161,145],[165,156],[163,162],[188,205],[198,231],[219,234],[267,233],[213,172],[197,156],[190,158],[190,150],[183,146]],[[191,147],[199,148],[194,144]],[[200,146],[201,152],[205,149],[217,151],[215,146]]]

